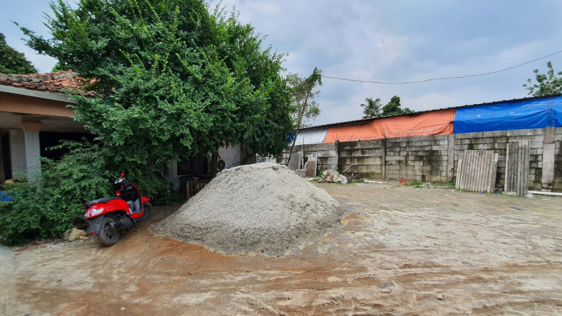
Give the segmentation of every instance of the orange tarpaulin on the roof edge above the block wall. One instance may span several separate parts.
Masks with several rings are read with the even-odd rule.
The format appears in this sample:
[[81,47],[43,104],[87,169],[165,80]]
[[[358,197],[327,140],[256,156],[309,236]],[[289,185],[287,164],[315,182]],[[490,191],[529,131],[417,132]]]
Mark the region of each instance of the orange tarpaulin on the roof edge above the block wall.
[[412,116],[384,117],[361,125],[330,127],[323,143],[453,134],[454,113],[455,109],[437,110]]

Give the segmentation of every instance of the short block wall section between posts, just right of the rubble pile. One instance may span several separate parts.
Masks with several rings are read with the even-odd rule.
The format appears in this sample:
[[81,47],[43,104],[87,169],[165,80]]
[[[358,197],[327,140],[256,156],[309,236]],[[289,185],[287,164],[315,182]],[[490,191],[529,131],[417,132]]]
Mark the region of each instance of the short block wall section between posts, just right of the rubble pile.
[[351,173],[350,165],[357,165],[355,171],[360,172],[361,177],[382,179],[384,142],[384,139],[340,142],[338,170],[342,172],[347,169],[346,173]]

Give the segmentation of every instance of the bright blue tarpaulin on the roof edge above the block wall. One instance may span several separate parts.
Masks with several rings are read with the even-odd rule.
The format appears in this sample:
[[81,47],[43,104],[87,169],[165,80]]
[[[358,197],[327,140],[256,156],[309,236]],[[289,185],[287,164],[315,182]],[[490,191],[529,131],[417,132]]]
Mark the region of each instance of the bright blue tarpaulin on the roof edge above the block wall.
[[460,107],[454,134],[562,127],[562,96]]

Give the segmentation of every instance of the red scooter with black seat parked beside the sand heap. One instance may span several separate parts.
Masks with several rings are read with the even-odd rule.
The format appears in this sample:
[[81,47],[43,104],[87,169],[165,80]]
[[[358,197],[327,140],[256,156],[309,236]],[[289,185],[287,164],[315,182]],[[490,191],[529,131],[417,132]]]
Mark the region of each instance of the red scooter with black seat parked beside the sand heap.
[[146,221],[152,211],[150,199],[143,197],[136,185],[125,180],[125,172],[111,182],[117,197],[104,197],[84,204],[84,218],[90,221],[86,234],[98,235],[104,246],[115,245],[120,231],[128,230],[133,223]]

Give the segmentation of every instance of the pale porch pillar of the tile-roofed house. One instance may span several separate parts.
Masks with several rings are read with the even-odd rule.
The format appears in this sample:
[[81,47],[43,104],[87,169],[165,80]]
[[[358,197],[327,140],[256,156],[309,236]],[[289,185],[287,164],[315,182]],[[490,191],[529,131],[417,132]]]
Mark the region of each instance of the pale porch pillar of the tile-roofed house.
[[39,131],[41,122],[26,122],[20,124],[25,139],[25,166],[28,170],[28,180],[33,182],[41,174],[41,147],[39,144]]

